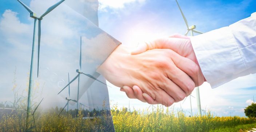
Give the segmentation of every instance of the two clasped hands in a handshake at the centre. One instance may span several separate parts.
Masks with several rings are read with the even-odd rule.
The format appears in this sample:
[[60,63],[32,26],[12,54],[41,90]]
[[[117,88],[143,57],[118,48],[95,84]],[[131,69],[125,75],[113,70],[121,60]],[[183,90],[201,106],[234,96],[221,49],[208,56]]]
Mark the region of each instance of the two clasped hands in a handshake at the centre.
[[179,34],[140,44],[119,45],[98,71],[129,98],[171,106],[205,81],[190,38]]

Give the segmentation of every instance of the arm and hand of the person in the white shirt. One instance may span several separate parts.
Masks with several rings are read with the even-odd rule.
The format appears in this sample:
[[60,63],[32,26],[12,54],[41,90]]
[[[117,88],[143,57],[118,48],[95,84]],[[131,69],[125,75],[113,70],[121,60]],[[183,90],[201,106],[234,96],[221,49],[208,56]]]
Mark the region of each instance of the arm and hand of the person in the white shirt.
[[[216,88],[238,77],[256,73],[256,12],[234,24],[198,36],[175,34],[145,42],[132,54],[158,48],[171,49],[192,59],[199,64],[205,81]],[[138,86],[124,86],[120,90],[126,92],[129,98],[149,104],[159,103]]]

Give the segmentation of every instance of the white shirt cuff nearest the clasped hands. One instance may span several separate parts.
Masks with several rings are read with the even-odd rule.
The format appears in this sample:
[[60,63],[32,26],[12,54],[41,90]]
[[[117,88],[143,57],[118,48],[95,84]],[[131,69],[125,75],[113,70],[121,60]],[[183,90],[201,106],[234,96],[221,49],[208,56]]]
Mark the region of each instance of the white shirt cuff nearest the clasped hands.
[[247,69],[228,26],[191,37],[191,43],[203,75],[212,88],[239,77]]

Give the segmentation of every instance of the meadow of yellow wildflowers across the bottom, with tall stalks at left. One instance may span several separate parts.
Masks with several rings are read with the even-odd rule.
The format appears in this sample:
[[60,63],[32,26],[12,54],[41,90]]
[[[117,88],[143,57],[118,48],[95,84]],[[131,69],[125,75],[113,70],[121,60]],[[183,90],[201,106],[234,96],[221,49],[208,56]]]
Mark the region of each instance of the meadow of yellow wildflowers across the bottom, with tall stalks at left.
[[[15,70],[16,71],[16,70]],[[16,72],[15,72],[16,73]],[[15,74],[14,73],[14,74]],[[26,121],[26,96],[18,94],[16,78],[13,79],[14,100],[11,104],[0,103],[0,132],[24,132]],[[34,92],[38,91],[36,86]],[[26,90],[23,92],[27,92]],[[23,93],[22,92],[22,93]],[[158,105],[156,108],[144,110],[130,110],[118,108],[114,104],[111,110],[106,110],[103,102],[102,110],[88,111],[64,110],[63,108],[50,108],[42,112],[41,108],[33,115],[27,131],[35,132],[95,132],[107,131],[112,127],[111,118],[116,132],[236,132],[246,131],[256,127],[256,118],[228,116],[218,117],[205,112],[203,116],[188,117],[185,112],[175,110],[174,107],[165,108]],[[33,103],[32,110],[39,104]],[[10,110],[12,108],[14,110]],[[33,113],[34,113],[33,112]],[[110,113],[111,112],[111,116]],[[95,117],[83,119],[83,117]]]

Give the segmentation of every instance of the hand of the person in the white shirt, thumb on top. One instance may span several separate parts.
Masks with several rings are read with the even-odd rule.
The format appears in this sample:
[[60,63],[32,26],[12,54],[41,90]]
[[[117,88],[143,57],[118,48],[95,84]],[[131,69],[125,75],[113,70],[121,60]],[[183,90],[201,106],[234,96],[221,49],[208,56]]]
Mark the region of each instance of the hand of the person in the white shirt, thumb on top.
[[[193,48],[190,42],[190,38],[187,36],[182,36],[180,34],[174,34],[169,38],[161,38],[153,42],[140,44],[137,47],[137,49],[132,51],[131,54],[139,54],[139,53],[143,53],[144,51],[155,49],[155,48],[172,49],[173,51],[179,53],[183,57],[191,59],[198,65],[196,55],[193,51]],[[198,69],[197,74],[195,73],[195,74],[189,74],[189,75],[193,78],[193,81],[195,82],[196,86],[200,86],[205,81],[203,74],[200,70],[200,67]],[[149,95],[142,93],[142,91],[138,86],[133,86],[133,88],[124,86],[123,88],[120,88],[120,90],[126,92],[129,98],[137,98],[143,102],[146,101],[150,104],[159,103],[153,100]]]

